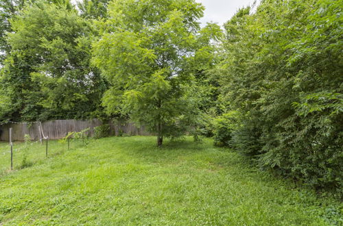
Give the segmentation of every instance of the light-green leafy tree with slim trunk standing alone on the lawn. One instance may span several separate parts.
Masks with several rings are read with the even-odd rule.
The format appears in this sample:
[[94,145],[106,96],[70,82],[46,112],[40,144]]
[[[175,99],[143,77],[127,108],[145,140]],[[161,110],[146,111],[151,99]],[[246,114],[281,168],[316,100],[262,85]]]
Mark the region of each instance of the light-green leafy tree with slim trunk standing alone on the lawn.
[[204,7],[193,0],[113,1],[108,8],[105,32],[93,45],[93,63],[110,81],[104,105],[156,132],[160,146],[193,118],[194,73],[211,58],[220,28],[200,29]]

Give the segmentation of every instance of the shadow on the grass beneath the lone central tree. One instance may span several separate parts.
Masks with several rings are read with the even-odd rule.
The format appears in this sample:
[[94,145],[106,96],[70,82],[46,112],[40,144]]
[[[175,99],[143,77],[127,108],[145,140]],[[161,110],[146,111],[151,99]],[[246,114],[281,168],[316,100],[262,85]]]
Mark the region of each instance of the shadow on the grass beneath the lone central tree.
[[233,153],[232,150],[213,146],[213,140],[205,138],[202,142],[194,142],[193,138],[178,140],[164,140],[161,147],[157,147],[155,137],[109,138],[108,142],[115,142],[114,149],[129,156],[137,162],[154,164],[180,164],[180,162],[202,162],[214,167],[239,166],[250,168],[252,164],[244,156]]

